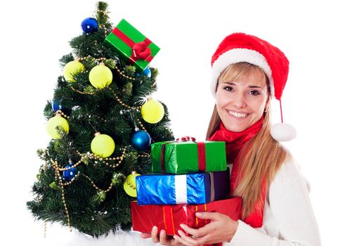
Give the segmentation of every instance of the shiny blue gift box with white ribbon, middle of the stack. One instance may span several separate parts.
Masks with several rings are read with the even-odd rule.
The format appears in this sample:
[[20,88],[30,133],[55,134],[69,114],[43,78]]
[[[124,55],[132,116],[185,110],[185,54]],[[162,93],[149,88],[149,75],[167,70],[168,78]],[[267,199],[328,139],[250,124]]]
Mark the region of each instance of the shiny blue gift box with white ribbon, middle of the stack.
[[138,205],[204,204],[228,198],[229,169],[197,174],[136,177]]

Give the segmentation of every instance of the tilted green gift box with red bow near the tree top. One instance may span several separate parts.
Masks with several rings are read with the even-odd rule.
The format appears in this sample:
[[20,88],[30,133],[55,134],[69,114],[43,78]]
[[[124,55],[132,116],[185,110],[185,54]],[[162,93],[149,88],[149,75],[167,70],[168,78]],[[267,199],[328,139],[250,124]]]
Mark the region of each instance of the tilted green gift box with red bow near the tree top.
[[105,42],[121,54],[123,60],[130,61],[140,72],[148,67],[152,58],[160,50],[156,44],[124,19],[105,38]]

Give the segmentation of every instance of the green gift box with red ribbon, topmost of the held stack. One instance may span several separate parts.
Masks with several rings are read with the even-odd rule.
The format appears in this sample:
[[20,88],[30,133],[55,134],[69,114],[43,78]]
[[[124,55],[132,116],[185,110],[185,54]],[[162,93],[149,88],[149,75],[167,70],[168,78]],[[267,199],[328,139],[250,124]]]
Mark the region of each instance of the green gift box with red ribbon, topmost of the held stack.
[[198,171],[225,171],[223,141],[164,141],[151,145],[152,172],[188,174]]

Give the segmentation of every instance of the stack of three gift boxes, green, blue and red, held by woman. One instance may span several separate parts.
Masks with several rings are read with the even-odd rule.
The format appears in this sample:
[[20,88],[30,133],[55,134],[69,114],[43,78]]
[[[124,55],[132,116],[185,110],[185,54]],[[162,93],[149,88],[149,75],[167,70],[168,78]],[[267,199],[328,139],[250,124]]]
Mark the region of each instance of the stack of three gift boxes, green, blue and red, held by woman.
[[178,235],[180,224],[200,228],[209,221],[195,212],[220,212],[240,219],[242,200],[229,197],[225,143],[185,137],[151,145],[152,174],[136,176],[137,201],[131,202],[134,231],[152,226]]

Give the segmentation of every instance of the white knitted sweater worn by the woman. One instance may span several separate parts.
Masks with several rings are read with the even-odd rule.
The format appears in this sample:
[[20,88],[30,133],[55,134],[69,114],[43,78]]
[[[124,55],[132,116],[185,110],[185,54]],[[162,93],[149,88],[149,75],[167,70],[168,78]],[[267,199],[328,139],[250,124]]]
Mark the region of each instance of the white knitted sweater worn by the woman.
[[280,238],[239,221],[233,239],[223,242],[223,246],[321,245],[307,186],[294,160],[282,164],[268,191],[268,203],[280,228]]

